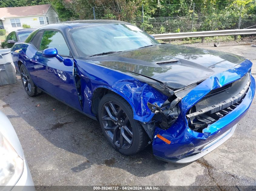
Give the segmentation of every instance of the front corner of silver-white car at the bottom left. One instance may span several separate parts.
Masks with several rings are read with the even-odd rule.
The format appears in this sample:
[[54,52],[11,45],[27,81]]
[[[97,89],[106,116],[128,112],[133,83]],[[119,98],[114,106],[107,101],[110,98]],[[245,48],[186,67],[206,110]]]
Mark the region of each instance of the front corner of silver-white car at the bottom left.
[[34,191],[35,186],[18,136],[0,111],[0,190]]

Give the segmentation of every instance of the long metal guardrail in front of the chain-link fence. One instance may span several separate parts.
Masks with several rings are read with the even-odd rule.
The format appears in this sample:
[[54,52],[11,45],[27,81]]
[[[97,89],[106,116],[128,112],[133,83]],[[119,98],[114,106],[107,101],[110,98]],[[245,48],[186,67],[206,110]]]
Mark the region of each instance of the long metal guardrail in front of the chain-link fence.
[[174,40],[174,39],[183,39],[183,38],[189,38],[189,37],[201,37],[202,43],[203,43],[204,37],[234,35],[235,40],[237,40],[237,36],[242,34],[256,34],[256,29],[233,29],[233,30],[213,30],[213,31],[188,32],[188,33],[152,34],[152,36],[155,37],[156,40]]

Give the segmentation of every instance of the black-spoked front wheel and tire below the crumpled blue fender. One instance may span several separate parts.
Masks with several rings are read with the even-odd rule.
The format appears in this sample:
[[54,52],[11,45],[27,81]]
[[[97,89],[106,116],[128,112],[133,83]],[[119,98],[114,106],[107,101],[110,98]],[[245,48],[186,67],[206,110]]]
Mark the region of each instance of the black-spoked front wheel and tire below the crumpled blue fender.
[[114,93],[103,96],[98,117],[105,137],[115,150],[132,155],[146,147],[148,136],[141,124],[133,119],[130,104],[121,96]]

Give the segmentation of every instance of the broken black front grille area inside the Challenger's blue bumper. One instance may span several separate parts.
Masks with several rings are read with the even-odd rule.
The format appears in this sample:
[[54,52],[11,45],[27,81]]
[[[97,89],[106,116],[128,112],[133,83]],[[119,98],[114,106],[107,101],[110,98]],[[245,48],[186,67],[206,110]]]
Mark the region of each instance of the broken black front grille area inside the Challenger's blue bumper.
[[[249,75],[245,75],[240,78],[240,80],[234,81],[232,84],[230,83],[222,86],[221,88],[210,91],[207,94],[207,98],[225,92],[229,89],[228,92],[195,104],[186,115],[189,128],[196,132],[202,132],[208,125],[218,121],[220,118],[234,110],[245,97],[250,83],[251,80]],[[241,89],[242,87],[243,89]],[[228,99],[226,99],[227,95],[230,96]]]

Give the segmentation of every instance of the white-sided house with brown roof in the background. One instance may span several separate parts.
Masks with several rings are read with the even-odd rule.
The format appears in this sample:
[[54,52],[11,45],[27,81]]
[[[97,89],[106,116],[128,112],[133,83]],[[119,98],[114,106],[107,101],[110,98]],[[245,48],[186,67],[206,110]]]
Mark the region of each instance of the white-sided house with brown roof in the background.
[[22,24],[37,28],[57,22],[58,13],[50,4],[0,8],[0,29],[5,29],[7,33],[22,29]]

